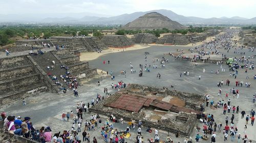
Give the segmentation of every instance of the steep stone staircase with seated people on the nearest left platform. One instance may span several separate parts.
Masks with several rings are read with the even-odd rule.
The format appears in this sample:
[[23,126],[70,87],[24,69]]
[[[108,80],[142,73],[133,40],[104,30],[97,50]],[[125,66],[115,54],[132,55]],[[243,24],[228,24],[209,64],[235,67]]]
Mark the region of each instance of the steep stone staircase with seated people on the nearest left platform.
[[[67,70],[65,68],[60,68],[60,61],[53,55],[52,52],[46,52],[44,54],[31,55],[32,59],[37,63],[37,65],[44,70],[46,73],[51,72],[52,76],[56,76],[62,87],[68,89],[68,84],[61,80],[60,75],[67,75]],[[54,69],[47,69],[47,66],[51,67],[53,65],[52,61],[55,62]],[[53,83],[56,81],[52,80]]]

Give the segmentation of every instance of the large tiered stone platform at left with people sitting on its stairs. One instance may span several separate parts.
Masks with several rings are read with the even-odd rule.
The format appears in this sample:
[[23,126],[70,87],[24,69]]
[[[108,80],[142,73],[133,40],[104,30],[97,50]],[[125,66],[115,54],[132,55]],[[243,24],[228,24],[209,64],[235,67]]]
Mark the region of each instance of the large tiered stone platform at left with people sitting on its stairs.
[[[52,61],[55,68],[48,70]],[[79,56],[69,49],[0,59],[0,105],[43,91],[59,93],[63,87],[68,89],[60,78],[60,75],[66,75],[66,69],[61,69],[61,65],[69,67],[68,71],[76,76],[78,83],[80,79],[97,73],[96,69],[89,68],[88,62],[79,61]],[[57,77],[61,86],[47,75],[48,71]]]

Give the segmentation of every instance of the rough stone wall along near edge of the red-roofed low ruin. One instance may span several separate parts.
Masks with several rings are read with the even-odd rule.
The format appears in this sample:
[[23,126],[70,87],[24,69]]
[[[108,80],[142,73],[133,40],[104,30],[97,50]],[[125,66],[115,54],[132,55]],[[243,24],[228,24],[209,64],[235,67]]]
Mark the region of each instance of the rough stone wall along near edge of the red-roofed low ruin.
[[[108,98],[106,98],[108,100]],[[181,112],[178,116],[176,116],[175,119],[165,119],[160,120],[159,122],[151,122],[148,120],[145,120],[143,118],[142,113],[140,112],[133,112],[126,111],[123,109],[118,108],[112,108],[112,107],[103,107],[104,102],[102,101],[96,105],[94,105],[92,108],[89,108],[90,112],[99,113],[99,115],[104,115],[107,117],[110,117],[111,114],[113,114],[116,119],[123,118],[124,121],[131,121],[134,119],[135,121],[141,120],[143,123],[143,126],[152,127],[160,130],[169,131],[171,133],[180,133],[181,135],[188,136],[190,132],[194,129],[195,121],[197,120],[197,116],[195,114],[188,114]],[[183,121],[179,119],[185,119]]]

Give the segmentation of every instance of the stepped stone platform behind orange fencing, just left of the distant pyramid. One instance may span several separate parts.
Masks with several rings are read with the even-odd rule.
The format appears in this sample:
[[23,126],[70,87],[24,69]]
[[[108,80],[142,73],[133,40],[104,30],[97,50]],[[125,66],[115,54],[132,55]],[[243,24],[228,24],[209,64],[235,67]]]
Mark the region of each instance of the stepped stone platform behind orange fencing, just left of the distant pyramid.
[[108,47],[126,48],[131,47],[133,43],[124,35],[106,35],[101,42]]

